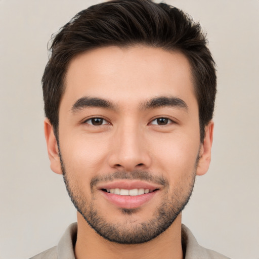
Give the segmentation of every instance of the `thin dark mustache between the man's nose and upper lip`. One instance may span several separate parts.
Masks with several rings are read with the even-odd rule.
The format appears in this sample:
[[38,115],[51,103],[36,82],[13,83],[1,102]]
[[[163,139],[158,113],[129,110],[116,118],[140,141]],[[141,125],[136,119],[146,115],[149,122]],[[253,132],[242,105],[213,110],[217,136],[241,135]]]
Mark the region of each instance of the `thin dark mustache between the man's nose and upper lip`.
[[91,190],[100,182],[112,182],[114,180],[140,180],[146,181],[153,184],[158,184],[162,186],[168,186],[169,183],[167,179],[163,176],[154,175],[149,171],[144,170],[134,170],[128,171],[115,171],[107,175],[99,175],[92,178],[90,186]]

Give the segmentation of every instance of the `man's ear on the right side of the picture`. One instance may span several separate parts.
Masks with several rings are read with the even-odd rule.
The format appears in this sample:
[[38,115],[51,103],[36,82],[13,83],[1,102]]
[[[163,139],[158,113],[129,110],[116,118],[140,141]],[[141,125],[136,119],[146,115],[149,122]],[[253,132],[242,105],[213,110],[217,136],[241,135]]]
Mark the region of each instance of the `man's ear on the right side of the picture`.
[[205,138],[203,143],[201,143],[200,147],[200,158],[197,166],[196,175],[202,176],[205,175],[211,159],[211,146],[213,141],[213,129],[214,122],[210,121],[208,125],[205,127]]

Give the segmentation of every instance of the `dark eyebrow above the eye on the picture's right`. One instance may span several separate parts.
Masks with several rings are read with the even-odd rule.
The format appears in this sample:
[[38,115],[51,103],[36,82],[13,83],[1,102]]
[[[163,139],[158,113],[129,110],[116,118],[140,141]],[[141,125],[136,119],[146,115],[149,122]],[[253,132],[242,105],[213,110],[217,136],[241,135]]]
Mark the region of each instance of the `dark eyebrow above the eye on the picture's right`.
[[155,108],[167,107],[167,106],[177,107],[188,111],[188,106],[186,102],[180,98],[173,97],[173,96],[152,98],[150,100],[147,100],[145,103],[141,104],[140,109],[147,110],[147,109],[155,109]]

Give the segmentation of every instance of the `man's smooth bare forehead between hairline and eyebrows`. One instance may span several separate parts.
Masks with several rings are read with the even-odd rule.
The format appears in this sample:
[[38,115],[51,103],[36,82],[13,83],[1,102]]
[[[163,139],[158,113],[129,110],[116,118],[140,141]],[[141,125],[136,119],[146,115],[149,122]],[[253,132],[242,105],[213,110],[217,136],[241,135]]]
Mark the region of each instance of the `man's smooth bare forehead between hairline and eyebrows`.
[[191,67],[183,54],[149,47],[105,47],[71,60],[61,106],[71,108],[83,96],[123,106],[168,95],[194,98]]

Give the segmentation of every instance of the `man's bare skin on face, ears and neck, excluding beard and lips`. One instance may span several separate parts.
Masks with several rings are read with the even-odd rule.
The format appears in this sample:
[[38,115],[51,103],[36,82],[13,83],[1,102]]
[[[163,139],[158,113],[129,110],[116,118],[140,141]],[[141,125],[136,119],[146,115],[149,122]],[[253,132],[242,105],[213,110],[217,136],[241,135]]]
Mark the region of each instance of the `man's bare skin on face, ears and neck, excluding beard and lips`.
[[[208,170],[213,122],[206,126],[204,142],[200,143],[191,68],[181,53],[148,47],[96,49],[70,62],[65,86],[59,111],[59,143],[66,177],[86,202],[94,202],[107,223],[124,224],[126,231],[131,231],[132,226],[151,220],[160,202],[170,199],[172,194],[187,196],[194,175],[204,175]],[[165,96],[183,100],[187,108],[140,108],[147,100]],[[83,97],[108,100],[114,109],[73,110],[76,101]],[[105,121],[99,126],[91,125],[93,117]],[[157,118],[169,120],[157,125]],[[48,119],[45,136],[51,168],[62,174],[57,141]],[[94,177],[122,170],[125,174],[144,170],[162,176],[168,188],[160,186],[153,198],[134,213],[122,213],[121,208],[103,197],[97,186],[90,188]],[[131,245],[104,239],[79,212],[77,220],[77,259],[85,254],[89,258],[183,258],[181,213],[156,238]],[[127,225],[129,221],[131,224]]]

